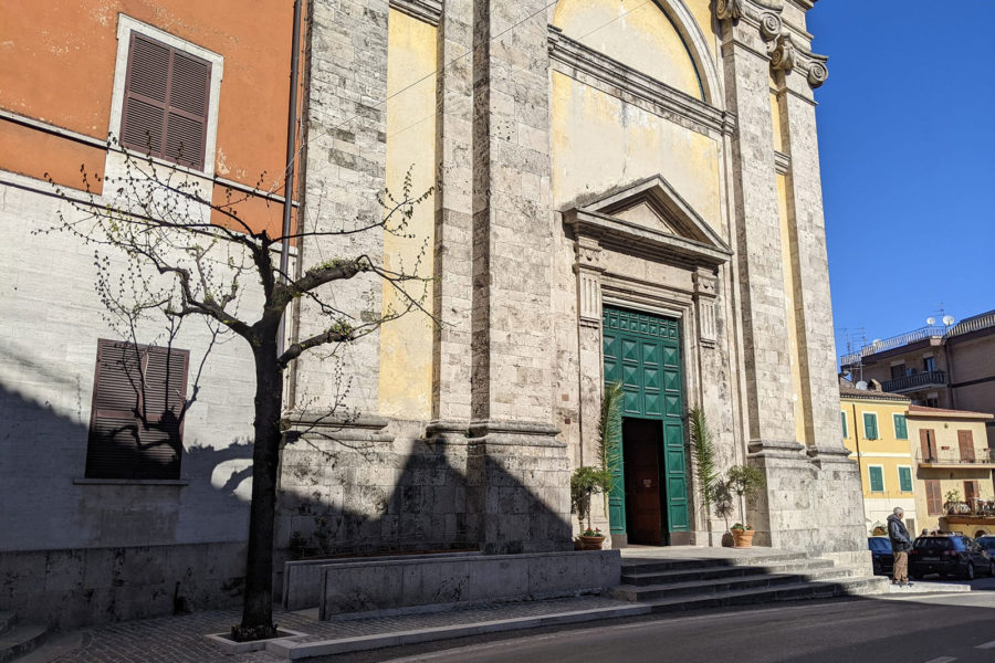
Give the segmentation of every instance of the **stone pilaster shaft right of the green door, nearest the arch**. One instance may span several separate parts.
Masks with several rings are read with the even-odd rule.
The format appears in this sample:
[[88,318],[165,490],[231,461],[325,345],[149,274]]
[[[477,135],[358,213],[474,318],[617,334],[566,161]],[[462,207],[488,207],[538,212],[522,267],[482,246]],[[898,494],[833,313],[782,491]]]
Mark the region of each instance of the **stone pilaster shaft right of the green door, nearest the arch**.
[[[723,18],[721,13],[719,17]],[[767,33],[745,18],[725,18],[722,22],[726,107],[737,118],[732,140],[737,249],[734,269],[740,278],[750,439],[793,441],[766,38]]]

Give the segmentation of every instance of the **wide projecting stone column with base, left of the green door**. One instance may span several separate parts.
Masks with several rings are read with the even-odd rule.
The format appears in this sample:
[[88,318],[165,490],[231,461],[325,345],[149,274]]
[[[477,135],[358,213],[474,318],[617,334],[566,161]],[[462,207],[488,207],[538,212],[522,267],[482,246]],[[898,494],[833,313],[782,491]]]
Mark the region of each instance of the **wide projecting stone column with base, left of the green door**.
[[555,439],[544,0],[473,4],[472,502],[486,552],[567,549]]

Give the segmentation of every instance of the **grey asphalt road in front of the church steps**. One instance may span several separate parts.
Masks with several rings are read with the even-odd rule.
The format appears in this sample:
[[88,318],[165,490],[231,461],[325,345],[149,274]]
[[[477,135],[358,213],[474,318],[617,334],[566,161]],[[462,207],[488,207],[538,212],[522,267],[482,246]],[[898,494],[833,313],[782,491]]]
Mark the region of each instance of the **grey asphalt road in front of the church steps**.
[[[995,663],[995,580],[975,591],[649,617],[370,652],[395,663]],[[342,659],[336,659],[341,661]]]

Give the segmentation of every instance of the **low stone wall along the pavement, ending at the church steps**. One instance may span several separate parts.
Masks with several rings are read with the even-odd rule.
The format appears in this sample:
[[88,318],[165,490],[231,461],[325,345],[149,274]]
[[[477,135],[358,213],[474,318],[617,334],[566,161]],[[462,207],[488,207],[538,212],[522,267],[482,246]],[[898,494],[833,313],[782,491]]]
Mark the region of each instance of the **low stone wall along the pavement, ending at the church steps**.
[[332,564],[321,572],[320,617],[329,619],[347,612],[600,593],[621,579],[621,557],[617,550],[438,557]]

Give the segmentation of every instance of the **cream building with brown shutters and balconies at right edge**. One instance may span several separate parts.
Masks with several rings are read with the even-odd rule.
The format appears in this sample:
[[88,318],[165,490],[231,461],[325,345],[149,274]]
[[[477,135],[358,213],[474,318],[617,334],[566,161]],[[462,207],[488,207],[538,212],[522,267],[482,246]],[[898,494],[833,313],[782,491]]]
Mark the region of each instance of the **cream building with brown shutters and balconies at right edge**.
[[920,527],[968,536],[995,532],[995,452],[985,434],[992,419],[984,412],[909,407]]

